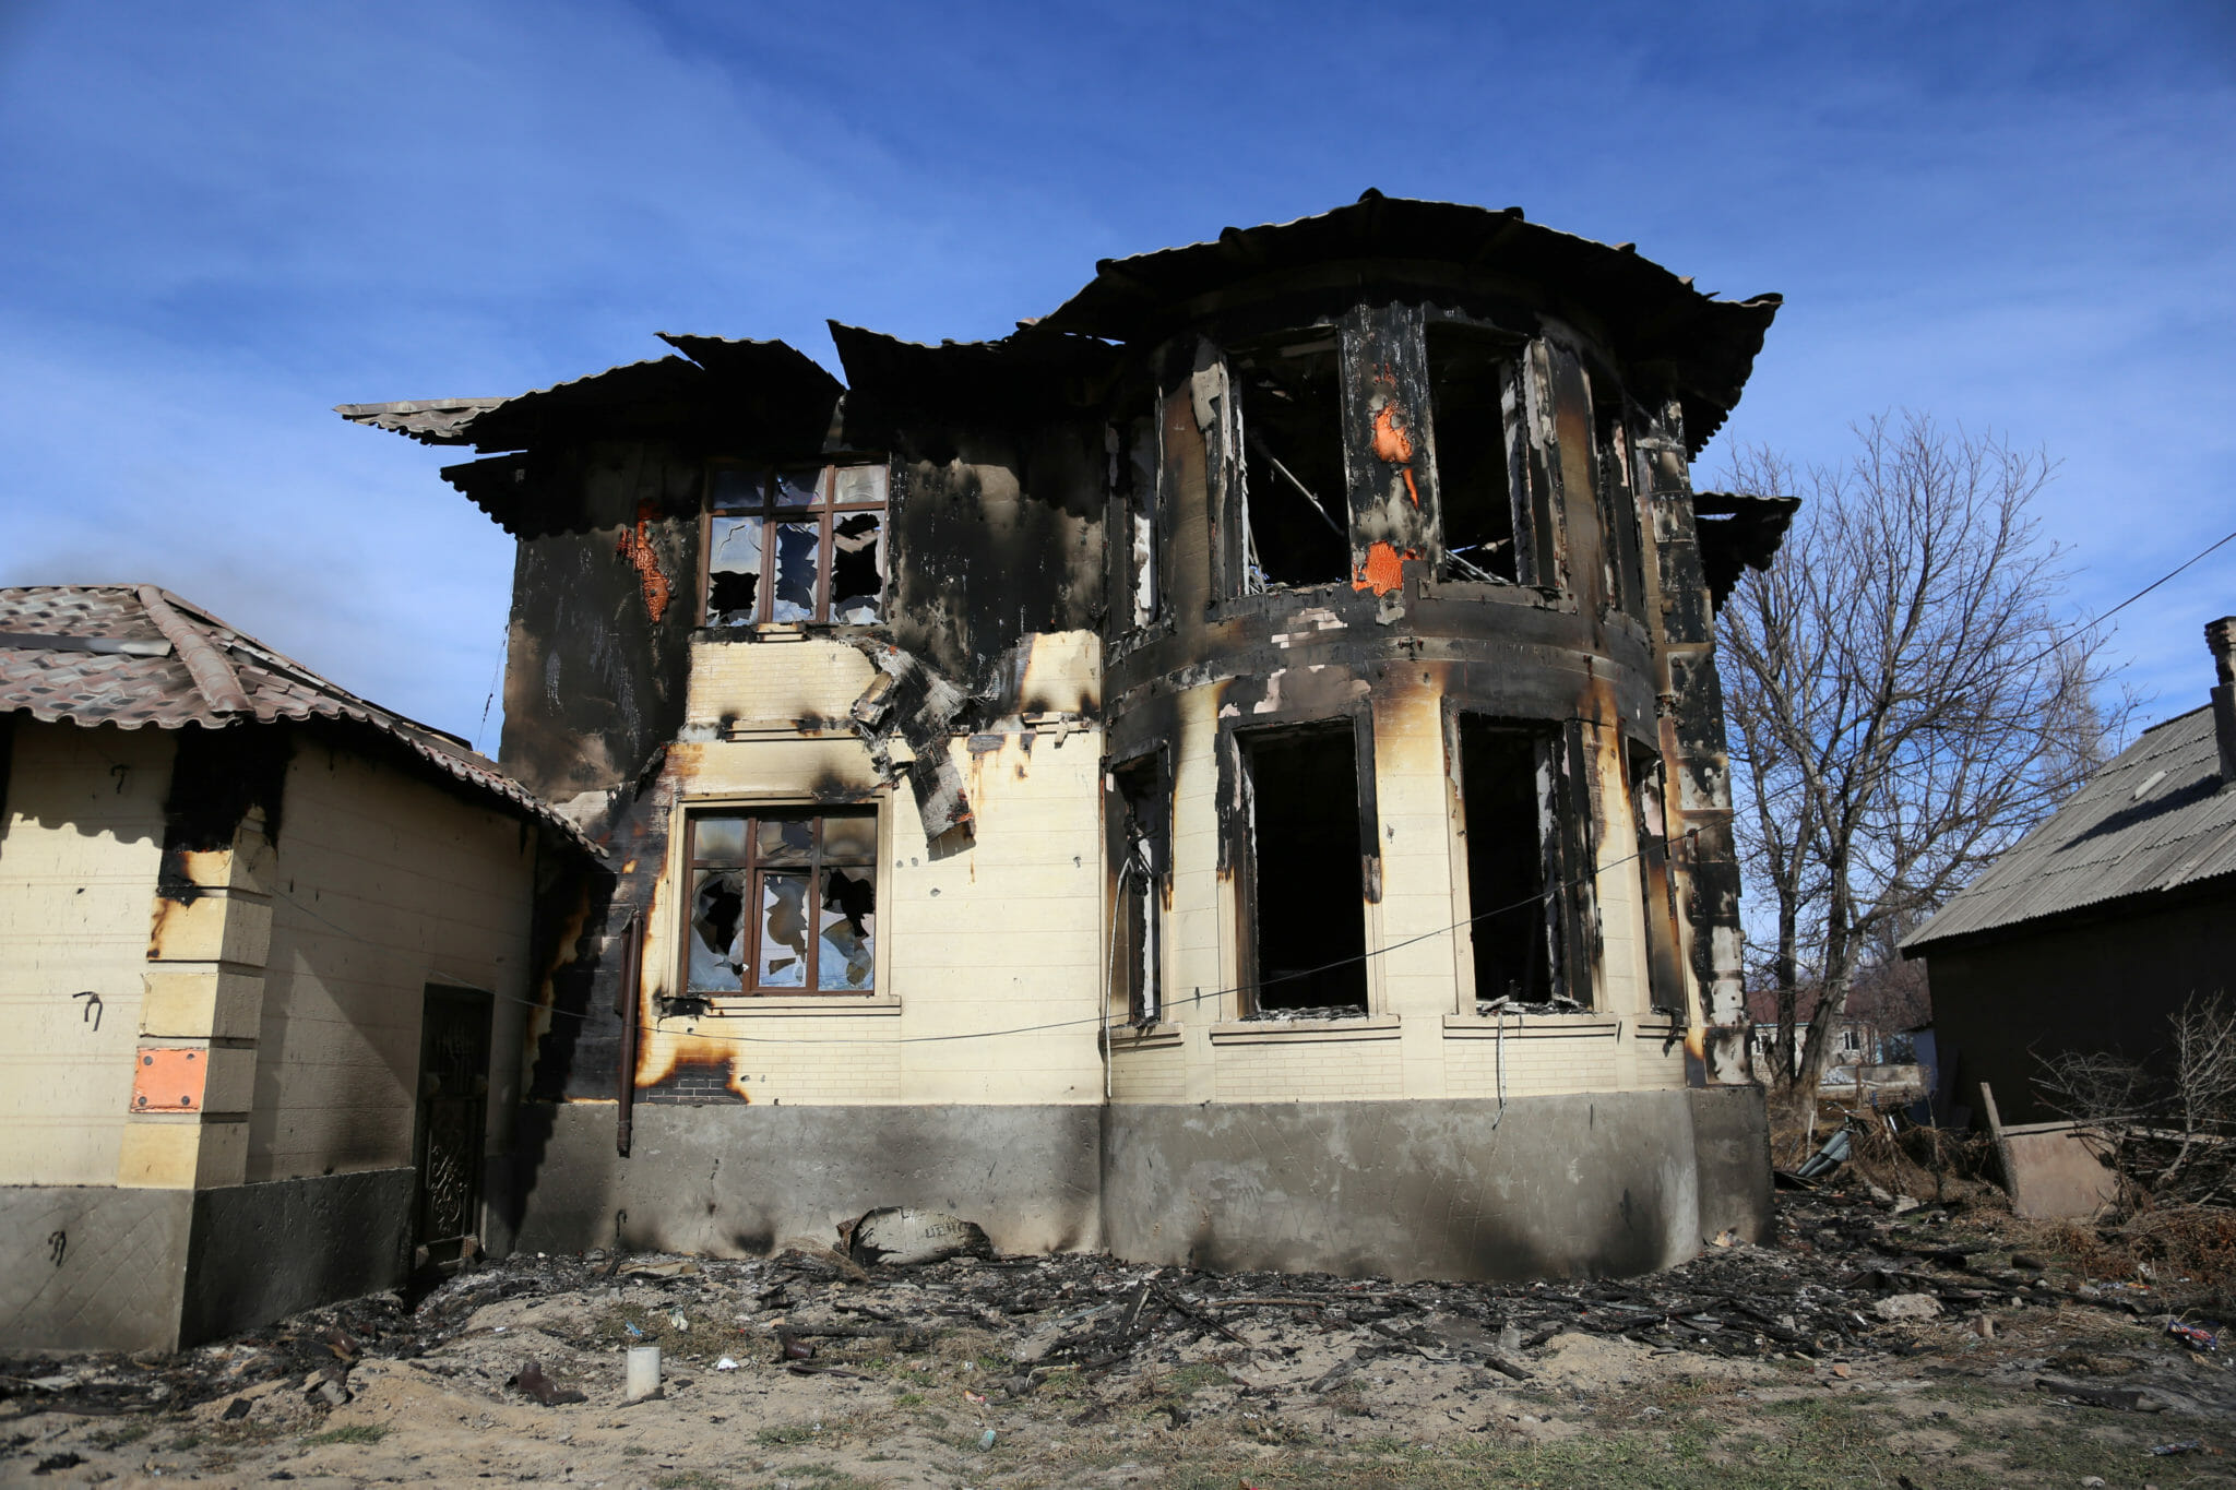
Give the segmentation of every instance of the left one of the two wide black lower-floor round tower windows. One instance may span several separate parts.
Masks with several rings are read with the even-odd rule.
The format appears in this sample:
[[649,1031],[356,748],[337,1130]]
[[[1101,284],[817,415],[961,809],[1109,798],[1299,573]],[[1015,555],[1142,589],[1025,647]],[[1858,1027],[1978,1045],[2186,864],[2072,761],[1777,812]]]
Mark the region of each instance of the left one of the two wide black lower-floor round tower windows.
[[1366,1012],[1359,748],[1348,722],[1243,737],[1259,1010]]

